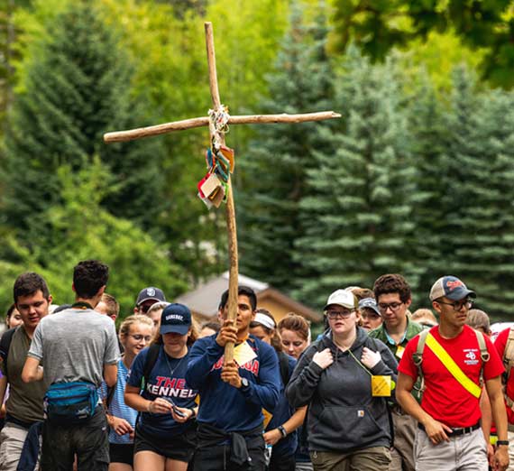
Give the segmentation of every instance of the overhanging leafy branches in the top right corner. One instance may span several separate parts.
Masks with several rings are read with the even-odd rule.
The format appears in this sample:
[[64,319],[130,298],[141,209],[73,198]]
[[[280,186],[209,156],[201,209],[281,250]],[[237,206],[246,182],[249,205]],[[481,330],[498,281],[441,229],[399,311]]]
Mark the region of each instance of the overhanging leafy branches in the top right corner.
[[425,0],[335,0],[334,47],[355,42],[373,59],[393,46],[406,47],[431,32],[455,32],[464,45],[484,52],[482,75],[492,84],[512,87],[514,14],[510,0],[448,2]]

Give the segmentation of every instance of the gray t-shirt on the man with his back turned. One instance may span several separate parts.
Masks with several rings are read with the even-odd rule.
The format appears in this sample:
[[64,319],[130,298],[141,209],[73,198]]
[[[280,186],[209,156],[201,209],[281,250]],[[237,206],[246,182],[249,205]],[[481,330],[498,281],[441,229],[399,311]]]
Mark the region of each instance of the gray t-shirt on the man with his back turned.
[[100,386],[104,365],[120,358],[113,319],[92,309],[65,309],[41,319],[28,356],[44,361],[43,380]]

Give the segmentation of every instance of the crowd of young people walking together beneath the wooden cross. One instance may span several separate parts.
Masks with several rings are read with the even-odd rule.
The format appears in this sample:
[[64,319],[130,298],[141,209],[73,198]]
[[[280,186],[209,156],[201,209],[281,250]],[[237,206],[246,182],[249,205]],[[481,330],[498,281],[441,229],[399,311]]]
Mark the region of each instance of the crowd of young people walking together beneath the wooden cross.
[[225,291],[200,326],[144,288],[116,331],[108,277],[78,263],[75,302],[59,307],[38,273],[15,280],[0,471],[514,469],[514,328],[492,341],[454,276],[413,313],[399,274],[338,289],[314,341],[306,319],[277,322],[245,286],[236,319]]

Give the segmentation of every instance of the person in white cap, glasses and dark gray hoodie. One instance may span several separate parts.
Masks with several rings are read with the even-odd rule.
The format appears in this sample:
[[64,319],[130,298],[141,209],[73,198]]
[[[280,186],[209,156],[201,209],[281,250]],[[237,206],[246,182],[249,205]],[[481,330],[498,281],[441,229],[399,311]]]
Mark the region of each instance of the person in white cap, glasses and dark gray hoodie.
[[312,464],[319,471],[387,469],[387,399],[394,394],[397,362],[383,342],[358,327],[351,291],[333,292],[324,311],[329,329],[300,357],[286,388],[292,407],[308,405]]

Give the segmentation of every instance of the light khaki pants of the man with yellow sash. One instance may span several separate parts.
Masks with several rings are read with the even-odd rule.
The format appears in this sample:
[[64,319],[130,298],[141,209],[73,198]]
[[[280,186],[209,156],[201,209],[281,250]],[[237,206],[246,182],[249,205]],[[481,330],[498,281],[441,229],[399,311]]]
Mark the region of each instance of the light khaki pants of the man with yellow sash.
[[488,471],[487,448],[482,429],[434,445],[418,429],[414,444],[416,471]]

